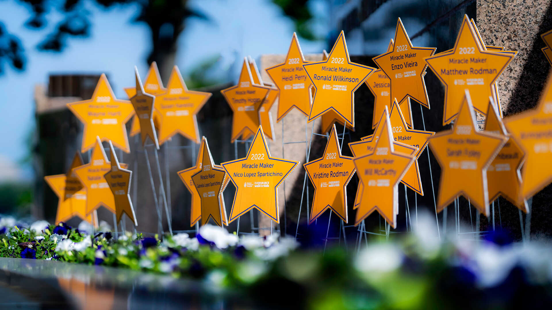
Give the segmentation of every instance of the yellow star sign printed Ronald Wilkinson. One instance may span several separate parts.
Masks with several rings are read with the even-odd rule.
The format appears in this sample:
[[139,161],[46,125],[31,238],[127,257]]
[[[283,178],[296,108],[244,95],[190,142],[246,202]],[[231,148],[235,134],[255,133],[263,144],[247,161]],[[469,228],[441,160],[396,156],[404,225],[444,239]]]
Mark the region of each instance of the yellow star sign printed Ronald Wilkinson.
[[351,62],[343,31],[327,60],[305,63],[303,67],[316,89],[309,122],[332,109],[354,127],[354,91],[374,68]]

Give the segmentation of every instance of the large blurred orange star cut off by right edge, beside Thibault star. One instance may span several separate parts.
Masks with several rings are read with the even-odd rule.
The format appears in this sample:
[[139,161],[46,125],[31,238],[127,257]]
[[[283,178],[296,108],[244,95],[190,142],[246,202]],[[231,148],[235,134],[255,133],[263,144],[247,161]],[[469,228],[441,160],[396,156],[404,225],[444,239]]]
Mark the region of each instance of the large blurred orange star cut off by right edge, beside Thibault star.
[[504,119],[506,129],[526,154],[521,197],[537,194],[552,181],[552,76],[536,108]]

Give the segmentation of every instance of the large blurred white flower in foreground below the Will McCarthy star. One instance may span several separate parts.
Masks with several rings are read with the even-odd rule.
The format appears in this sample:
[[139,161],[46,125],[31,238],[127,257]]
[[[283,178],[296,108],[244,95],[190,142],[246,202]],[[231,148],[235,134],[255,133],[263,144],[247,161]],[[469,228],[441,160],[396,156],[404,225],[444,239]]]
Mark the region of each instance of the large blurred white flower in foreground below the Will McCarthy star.
[[399,268],[402,251],[394,244],[371,244],[357,256],[354,266],[362,272],[388,272]]

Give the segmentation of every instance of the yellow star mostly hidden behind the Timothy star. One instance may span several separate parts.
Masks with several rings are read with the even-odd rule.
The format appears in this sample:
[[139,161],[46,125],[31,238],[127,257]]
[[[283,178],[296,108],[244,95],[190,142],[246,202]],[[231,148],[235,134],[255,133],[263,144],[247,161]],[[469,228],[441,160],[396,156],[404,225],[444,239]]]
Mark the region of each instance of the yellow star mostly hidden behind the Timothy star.
[[[280,91],[278,90],[278,88],[273,87],[271,84],[264,82],[261,78],[261,73],[259,73],[259,70],[257,68],[257,63],[255,63],[253,58],[249,56],[247,58],[249,59],[249,66],[251,68],[253,83],[270,87],[270,91],[268,92],[267,97],[264,99],[263,105],[261,105],[261,109],[259,109],[259,117],[261,117],[261,125],[264,128],[264,135],[266,135],[270,140],[274,140],[274,124],[272,122],[272,114],[270,114],[270,109],[272,109],[272,106],[276,103],[276,99],[278,99]],[[251,131],[248,131],[247,134],[244,133],[243,140],[247,140],[248,138],[252,137],[253,133],[254,132]]]

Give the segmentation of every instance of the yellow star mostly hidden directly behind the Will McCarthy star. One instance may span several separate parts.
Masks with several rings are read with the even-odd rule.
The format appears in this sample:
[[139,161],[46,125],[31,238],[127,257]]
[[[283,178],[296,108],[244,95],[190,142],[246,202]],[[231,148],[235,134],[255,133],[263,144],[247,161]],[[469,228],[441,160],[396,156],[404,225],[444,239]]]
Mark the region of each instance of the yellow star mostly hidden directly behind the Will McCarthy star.
[[[382,129],[383,127],[381,126],[385,125],[386,124],[385,120],[388,120],[388,119],[390,119],[389,111],[387,106],[384,106],[384,111],[380,116],[380,120],[378,121],[378,127],[376,127],[376,129],[374,130],[374,134],[362,137],[361,141],[355,141],[355,142],[349,143],[349,149],[351,149],[351,153],[353,153],[353,156],[355,158],[362,157],[374,151],[375,144],[376,142],[378,142],[378,138],[379,138],[377,134],[381,133],[381,131],[383,130]],[[405,143],[398,142],[396,140],[393,142],[393,146],[397,152],[401,152],[401,153],[413,155],[413,154],[416,154],[418,151],[418,149],[415,146],[407,145]],[[410,178],[412,177],[409,177],[409,176],[412,176],[412,175],[417,175],[419,177],[420,173],[419,173],[419,169],[417,168],[417,161],[415,161],[414,163],[415,164],[411,165],[410,168],[408,168],[408,170],[406,171],[405,177],[403,177],[403,179],[410,180]],[[401,182],[406,185],[404,180],[401,180]],[[413,183],[413,182],[411,181],[410,183]],[[410,188],[412,189],[411,186]],[[421,186],[420,186],[420,189],[421,189]],[[364,185],[362,183],[359,183],[357,188],[357,194],[355,195],[355,199],[354,199],[353,209],[357,209],[360,203],[360,196],[362,195],[363,190],[364,190]]]

